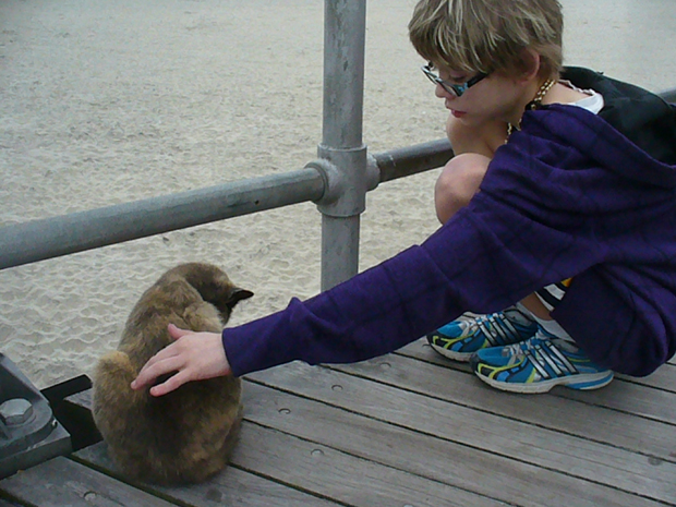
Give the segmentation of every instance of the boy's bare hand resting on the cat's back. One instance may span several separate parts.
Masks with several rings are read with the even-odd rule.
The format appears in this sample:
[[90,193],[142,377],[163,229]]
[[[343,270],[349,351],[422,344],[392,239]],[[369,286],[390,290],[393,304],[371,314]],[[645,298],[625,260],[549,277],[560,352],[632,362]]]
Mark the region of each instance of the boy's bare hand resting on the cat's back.
[[153,355],[132,382],[132,389],[143,389],[167,373],[177,372],[162,384],[150,388],[150,395],[162,396],[191,381],[204,381],[232,373],[222,339],[217,333],[194,333],[169,324],[176,341]]

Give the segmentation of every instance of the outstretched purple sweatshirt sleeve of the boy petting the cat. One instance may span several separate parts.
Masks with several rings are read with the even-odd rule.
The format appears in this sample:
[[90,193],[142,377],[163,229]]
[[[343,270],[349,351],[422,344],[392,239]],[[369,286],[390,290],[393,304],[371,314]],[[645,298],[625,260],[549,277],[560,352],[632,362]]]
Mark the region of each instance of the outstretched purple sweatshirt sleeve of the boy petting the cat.
[[424,243],[307,301],[225,329],[232,371],[382,355],[464,311],[503,310],[603,263],[613,240],[638,225],[630,209],[641,197],[626,201],[632,192],[617,180],[554,135],[520,132],[498,149],[470,205]]

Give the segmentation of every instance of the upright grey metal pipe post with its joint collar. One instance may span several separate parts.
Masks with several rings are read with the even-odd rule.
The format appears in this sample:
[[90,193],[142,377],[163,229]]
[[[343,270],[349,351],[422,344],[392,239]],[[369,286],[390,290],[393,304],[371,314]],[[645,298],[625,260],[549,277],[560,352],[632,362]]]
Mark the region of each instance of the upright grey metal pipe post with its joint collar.
[[365,208],[366,147],[362,145],[365,0],[326,0],[324,10],[324,122],[318,156],[339,172],[340,195],[319,203],[322,290],[359,269],[360,214]]

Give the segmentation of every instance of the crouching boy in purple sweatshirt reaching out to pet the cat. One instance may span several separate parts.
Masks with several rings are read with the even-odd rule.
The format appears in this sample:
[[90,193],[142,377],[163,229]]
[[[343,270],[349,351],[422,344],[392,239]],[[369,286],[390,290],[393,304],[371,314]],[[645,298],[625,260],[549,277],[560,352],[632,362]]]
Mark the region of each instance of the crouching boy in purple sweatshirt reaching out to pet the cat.
[[[483,381],[521,393],[597,388],[673,355],[674,109],[591,71],[560,79],[556,0],[421,0],[409,29],[450,110],[457,156],[435,190],[443,227],[221,335],[170,326],[177,341],[133,388],[170,372],[154,396],[292,360],[355,362],[426,334],[471,358]],[[467,311],[488,315],[444,325]]]

